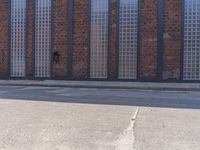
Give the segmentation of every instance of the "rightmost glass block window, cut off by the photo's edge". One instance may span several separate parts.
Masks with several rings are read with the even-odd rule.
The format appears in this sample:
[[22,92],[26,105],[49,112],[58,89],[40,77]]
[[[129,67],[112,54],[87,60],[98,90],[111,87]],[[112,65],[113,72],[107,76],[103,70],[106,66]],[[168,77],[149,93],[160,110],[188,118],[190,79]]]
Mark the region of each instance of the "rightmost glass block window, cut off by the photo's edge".
[[184,80],[200,80],[200,1],[185,0]]

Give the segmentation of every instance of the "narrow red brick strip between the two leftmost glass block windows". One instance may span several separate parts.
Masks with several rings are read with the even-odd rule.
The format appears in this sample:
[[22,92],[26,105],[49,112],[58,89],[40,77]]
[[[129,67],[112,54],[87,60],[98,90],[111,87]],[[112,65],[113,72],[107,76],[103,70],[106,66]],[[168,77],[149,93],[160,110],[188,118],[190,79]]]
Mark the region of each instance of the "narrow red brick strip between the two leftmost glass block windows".
[[28,47],[26,53],[26,76],[28,79],[34,77],[33,74],[33,0],[28,2]]

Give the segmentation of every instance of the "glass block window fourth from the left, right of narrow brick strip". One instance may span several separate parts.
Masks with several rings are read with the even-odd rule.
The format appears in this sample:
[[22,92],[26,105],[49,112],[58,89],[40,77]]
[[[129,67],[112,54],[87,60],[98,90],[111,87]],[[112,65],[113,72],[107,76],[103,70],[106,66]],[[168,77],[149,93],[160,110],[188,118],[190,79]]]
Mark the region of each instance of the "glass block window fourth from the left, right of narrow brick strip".
[[137,78],[138,0],[119,4],[119,78]]

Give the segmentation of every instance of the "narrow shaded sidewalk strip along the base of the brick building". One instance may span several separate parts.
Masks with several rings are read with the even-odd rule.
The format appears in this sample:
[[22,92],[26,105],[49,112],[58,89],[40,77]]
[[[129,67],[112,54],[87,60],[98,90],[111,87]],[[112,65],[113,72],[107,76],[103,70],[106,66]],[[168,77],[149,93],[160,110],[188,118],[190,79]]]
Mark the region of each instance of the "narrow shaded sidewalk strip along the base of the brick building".
[[0,80],[0,85],[69,88],[109,88],[168,91],[200,91],[200,83],[158,83],[119,81]]

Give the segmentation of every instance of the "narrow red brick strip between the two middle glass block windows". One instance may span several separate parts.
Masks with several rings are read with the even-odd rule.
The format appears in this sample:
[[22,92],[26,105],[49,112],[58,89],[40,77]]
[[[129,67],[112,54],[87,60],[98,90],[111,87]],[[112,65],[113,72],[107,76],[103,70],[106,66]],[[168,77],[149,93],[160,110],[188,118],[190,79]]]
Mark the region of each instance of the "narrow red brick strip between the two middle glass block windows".
[[110,56],[109,56],[109,78],[117,79],[117,47],[116,47],[116,39],[117,39],[117,0],[111,0],[111,48],[110,48]]

